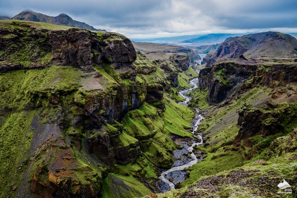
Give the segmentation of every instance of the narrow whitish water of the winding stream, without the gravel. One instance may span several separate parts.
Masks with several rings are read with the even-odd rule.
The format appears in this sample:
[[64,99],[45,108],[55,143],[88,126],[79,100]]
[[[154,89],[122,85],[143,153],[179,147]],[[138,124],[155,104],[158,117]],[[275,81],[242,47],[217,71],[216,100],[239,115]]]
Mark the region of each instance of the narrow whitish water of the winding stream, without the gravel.
[[[197,72],[199,73],[199,71],[197,71]],[[187,103],[190,101],[191,98],[188,97],[188,96],[186,96],[186,95],[184,95],[184,94],[186,94],[186,93],[188,93],[188,92],[196,89],[198,87],[197,86],[197,82],[198,82],[198,78],[194,78],[193,80],[190,81],[190,85],[193,86],[193,87],[191,87],[189,89],[186,89],[186,90],[179,91],[179,95],[181,95],[182,97],[185,98],[185,100],[182,101],[182,102],[179,102],[179,104],[186,105],[186,106],[188,105]],[[194,124],[194,129],[193,129],[192,134],[194,134],[194,132],[197,131],[199,125],[201,124],[202,120],[204,119],[204,117],[201,114],[199,114],[200,109],[196,108],[196,112],[197,112],[195,114],[195,118],[196,118],[195,120],[196,121],[195,121],[195,124]],[[195,145],[200,146],[200,145],[203,144],[203,140],[202,140],[201,134],[198,134],[197,135],[197,138],[201,139],[201,142],[199,142],[199,143],[198,142],[193,143],[192,146],[190,146],[190,147],[187,148],[188,152],[192,152],[193,146],[195,146]],[[170,173],[172,171],[180,171],[180,170],[183,170],[184,168],[189,168],[190,166],[193,166],[194,164],[196,164],[198,162],[198,159],[197,159],[196,155],[193,152],[190,155],[191,155],[191,159],[193,159],[192,161],[188,162],[185,165],[172,167],[171,169],[168,169],[168,170],[166,170],[166,171],[164,171],[164,172],[161,173],[161,176],[159,177],[160,180],[162,180],[164,183],[168,184],[170,186],[170,190],[175,189],[175,187],[174,187],[175,185],[171,181],[169,181],[165,177],[165,175],[167,175],[168,173]]]

